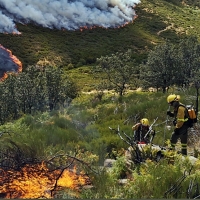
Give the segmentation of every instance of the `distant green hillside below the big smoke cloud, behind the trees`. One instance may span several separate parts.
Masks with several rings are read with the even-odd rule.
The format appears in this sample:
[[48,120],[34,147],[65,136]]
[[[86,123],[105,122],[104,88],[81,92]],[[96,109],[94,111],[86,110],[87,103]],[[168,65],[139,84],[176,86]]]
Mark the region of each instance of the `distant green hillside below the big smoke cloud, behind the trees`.
[[[23,67],[39,60],[58,66],[94,64],[97,57],[132,49],[138,62],[154,45],[178,41],[186,35],[200,36],[198,1],[142,0],[135,8],[138,17],[124,27],[76,31],[17,24],[22,33],[0,34],[0,44],[16,55]],[[188,3],[188,5],[187,5]],[[71,65],[70,65],[71,66]],[[68,66],[69,67],[69,66]]]

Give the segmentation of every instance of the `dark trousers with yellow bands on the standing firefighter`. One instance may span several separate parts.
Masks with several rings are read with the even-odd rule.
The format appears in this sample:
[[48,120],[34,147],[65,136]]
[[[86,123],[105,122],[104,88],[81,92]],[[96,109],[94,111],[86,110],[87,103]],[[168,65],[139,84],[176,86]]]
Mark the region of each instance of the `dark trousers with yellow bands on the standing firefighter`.
[[181,152],[183,155],[187,155],[188,125],[186,123],[184,123],[180,129],[178,129],[177,133],[172,133],[170,141],[173,149],[175,149],[179,138],[181,140]]

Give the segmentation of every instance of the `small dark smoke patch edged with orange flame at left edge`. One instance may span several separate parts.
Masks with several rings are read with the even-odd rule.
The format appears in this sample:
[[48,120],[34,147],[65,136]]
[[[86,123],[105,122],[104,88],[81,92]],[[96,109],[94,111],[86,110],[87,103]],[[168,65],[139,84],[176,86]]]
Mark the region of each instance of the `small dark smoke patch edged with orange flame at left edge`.
[[21,62],[12,55],[11,51],[0,45],[0,78],[6,72],[20,71],[21,67]]

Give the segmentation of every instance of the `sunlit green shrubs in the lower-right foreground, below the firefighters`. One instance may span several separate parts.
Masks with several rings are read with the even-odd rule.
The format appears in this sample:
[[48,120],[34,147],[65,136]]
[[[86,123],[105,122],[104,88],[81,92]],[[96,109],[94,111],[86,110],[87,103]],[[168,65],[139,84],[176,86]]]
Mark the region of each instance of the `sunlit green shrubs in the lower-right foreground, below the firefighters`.
[[[119,169],[120,162],[118,160],[111,174],[104,179],[106,180],[107,189],[102,184],[97,191],[84,191],[82,197],[86,199],[189,199],[197,196],[196,188],[191,189],[189,187],[191,186],[190,183],[197,184],[199,181],[198,173],[195,172],[195,169],[199,167],[199,163],[196,163],[193,166],[194,168],[190,170],[192,166],[189,160],[183,161],[180,156],[173,158],[173,164],[170,164],[167,159],[159,163],[147,160],[139,169],[133,171],[133,180],[129,180],[124,186],[120,186],[116,182],[113,184],[111,181],[117,165]],[[162,187],[160,187],[161,185]]]

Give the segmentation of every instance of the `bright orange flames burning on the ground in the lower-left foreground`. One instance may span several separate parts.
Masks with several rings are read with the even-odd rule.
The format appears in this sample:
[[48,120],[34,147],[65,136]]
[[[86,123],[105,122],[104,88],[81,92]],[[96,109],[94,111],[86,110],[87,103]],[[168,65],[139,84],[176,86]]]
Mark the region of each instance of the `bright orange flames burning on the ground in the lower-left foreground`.
[[45,164],[26,165],[20,171],[1,169],[0,196],[4,198],[53,198],[64,188],[78,191],[89,183],[84,174],[65,169],[50,171]]

